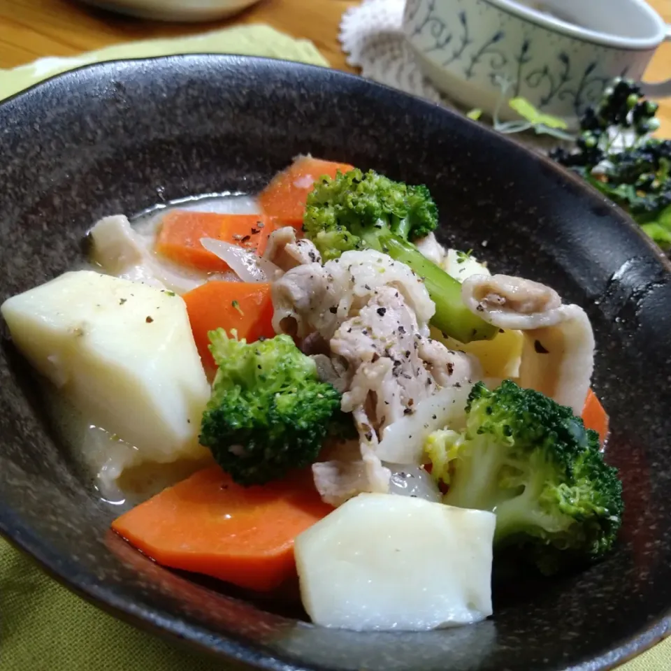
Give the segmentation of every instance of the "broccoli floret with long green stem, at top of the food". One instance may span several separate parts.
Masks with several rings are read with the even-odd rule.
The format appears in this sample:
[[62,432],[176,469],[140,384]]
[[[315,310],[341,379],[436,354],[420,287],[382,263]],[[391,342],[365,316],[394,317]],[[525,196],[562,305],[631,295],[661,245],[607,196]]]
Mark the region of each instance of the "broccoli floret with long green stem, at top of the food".
[[426,187],[411,187],[358,169],[316,182],[303,217],[305,235],[325,261],[349,250],[389,254],[423,278],[435,303],[433,326],[461,342],[493,338],[498,329],[466,308],[459,281],[412,244],[436,226],[438,209]]

